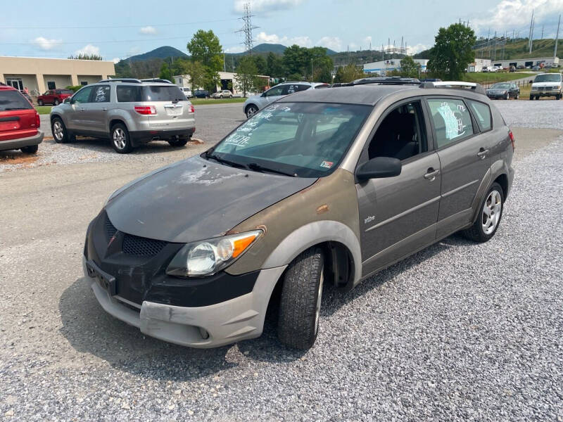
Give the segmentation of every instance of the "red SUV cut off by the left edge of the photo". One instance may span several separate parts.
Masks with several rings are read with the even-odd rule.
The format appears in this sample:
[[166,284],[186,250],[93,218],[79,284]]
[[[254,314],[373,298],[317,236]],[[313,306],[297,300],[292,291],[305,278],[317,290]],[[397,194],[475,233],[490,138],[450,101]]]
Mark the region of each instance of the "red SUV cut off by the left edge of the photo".
[[39,114],[20,91],[0,83],[0,151],[37,153],[43,141]]

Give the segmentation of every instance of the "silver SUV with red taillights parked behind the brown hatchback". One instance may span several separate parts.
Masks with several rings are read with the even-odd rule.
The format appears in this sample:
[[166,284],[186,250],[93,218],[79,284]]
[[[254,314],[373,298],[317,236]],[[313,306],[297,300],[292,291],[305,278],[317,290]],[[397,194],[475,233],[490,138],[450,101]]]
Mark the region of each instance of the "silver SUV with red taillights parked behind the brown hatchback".
[[196,130],[194,106],[168,82],[107,79],[87,85],[51,110],[56,142],[76,135],[109,138],[120,154],[150,141],[184,146]]

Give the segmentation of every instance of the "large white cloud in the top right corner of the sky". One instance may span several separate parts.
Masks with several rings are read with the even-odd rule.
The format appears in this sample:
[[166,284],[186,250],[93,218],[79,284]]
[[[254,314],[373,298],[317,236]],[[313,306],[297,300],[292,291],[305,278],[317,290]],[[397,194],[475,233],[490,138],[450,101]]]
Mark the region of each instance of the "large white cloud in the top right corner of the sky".
[[[537,28],[538,23],[545,18],[553,18],[562,9],[563,0],[502,0],[486,13],[487,18],[475,19],[472,27],[477,32],[486,31],[488,27],[491,27],[491,30],[527,27],[533,10]],[[557,26],[557,23],[555,25]],[[528,33],[524,36],[527,37]]]

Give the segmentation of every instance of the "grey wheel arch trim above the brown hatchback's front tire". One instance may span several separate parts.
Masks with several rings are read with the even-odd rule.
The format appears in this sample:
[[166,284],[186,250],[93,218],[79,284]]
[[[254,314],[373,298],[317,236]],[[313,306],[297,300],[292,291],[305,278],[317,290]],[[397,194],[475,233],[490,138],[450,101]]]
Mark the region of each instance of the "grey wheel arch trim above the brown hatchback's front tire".
[[281,267],[289,264],[304,250],[324,242],[338,242],[348,248],[353,260],[353,285],[358,284],[362,274],[360,241],[346,224],[331,220],[311,222],[292,231],[270,253],[263,264],[263,268]]

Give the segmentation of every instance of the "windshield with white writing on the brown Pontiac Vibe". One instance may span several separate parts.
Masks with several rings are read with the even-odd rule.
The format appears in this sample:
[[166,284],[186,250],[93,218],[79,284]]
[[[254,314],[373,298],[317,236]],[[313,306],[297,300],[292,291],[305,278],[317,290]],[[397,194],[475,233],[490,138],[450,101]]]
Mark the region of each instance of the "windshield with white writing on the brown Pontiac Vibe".
[[251,170],[326,176],[338,167],[371,110],[350,104],[275,103],[241,124],[210,153]]

